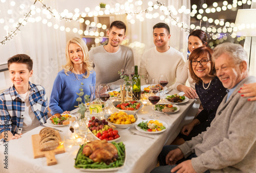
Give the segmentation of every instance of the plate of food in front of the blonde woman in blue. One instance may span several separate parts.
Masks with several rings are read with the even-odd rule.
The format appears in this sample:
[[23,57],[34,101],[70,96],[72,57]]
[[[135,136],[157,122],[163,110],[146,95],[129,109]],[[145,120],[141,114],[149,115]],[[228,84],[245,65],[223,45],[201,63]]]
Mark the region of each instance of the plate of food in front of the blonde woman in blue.
[[67,126],[69,125],[70,121],[73,122],[75,120],[76,120],[75,115],[56,113],[50,118],[48,118],[46,122],[48,123],[48,125],[51,125],[51,126]]

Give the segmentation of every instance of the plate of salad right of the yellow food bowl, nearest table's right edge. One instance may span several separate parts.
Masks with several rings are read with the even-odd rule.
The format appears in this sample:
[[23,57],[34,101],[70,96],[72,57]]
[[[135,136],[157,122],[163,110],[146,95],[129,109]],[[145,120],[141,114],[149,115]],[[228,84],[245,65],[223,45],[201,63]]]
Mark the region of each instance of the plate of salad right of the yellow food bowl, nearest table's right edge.
[[168,125],[161,120],[148,119],[137,122],[135,128],[143,133],[156,134],[164,132],[168,128]]

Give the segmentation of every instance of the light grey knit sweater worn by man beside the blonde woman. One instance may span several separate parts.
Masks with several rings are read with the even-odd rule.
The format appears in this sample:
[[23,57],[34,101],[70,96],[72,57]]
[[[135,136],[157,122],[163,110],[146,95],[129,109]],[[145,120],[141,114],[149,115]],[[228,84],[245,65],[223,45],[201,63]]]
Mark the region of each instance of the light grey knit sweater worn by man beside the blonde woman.
[[134,66],[133,51],[124,45],[119,45],[115,53],[106,52],[103,45],[97,46],[89,51],[89,58],[96,72],[96,84],[109,84],[111,90],[123,85],[118,71]]

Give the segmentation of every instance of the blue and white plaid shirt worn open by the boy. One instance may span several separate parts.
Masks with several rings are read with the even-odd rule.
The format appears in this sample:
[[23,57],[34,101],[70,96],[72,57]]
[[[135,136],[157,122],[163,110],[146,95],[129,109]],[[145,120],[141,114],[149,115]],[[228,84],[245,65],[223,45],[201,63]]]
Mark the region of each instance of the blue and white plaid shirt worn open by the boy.
[[[40,124],[48,119],[48,102],[45,88],[29,82],[29,102]],[[14,86],[0,94],[0,133],[11,131],[22,133],[26,103],[22,101]]]

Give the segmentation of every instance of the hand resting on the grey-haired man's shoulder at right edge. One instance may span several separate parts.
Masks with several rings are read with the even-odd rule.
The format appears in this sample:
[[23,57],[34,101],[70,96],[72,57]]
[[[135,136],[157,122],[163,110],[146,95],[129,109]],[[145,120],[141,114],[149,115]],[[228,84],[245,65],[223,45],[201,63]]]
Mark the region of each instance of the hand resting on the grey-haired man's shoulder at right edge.
[[250,97],[248,101],[256,101],[256,83],[244,84],[238,92],[243,93],[242,97]]

